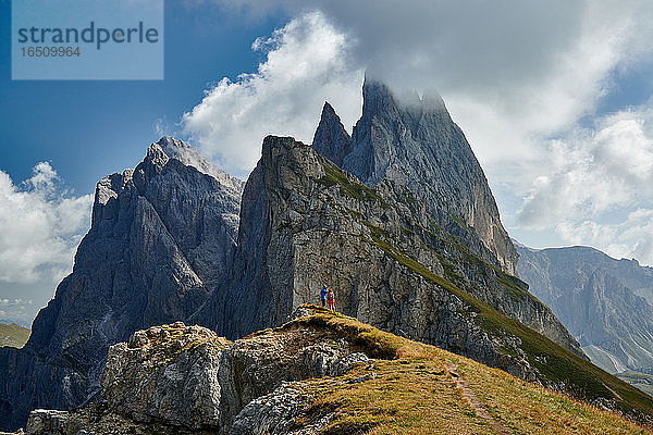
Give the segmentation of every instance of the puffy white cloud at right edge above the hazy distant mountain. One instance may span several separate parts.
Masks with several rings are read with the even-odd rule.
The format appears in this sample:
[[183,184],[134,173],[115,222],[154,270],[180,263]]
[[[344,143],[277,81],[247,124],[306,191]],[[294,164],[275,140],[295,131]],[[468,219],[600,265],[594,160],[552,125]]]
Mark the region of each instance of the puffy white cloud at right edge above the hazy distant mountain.
[[605,116],[549,145],[547,172],[538,176],[519,212],[527,226],[596,219],[619,208],[653,206],[653,110]]

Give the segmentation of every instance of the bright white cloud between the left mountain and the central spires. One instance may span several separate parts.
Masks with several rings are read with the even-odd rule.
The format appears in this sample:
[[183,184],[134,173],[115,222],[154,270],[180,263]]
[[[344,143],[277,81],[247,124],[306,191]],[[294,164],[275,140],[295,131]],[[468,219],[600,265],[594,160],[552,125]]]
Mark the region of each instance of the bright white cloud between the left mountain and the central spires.
[[269,134],[310,142],[325,100],[349,128],[360,116],[364,73],[350,69],[346,35],[322,13],[296,17],[251,48],[264,53],[258,71],[222,78],[183,116],[184,132],[221,167],[246,175]]

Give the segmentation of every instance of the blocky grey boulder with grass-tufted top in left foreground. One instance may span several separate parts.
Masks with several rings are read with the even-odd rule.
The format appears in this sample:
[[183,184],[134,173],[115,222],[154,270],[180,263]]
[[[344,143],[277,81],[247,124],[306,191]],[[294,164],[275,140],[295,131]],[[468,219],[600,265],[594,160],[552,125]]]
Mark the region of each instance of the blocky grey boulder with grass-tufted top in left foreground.
[[220,423],[220,356],[230,343],[183,323],[136,332],[109,348],[102,397],[136,422],[199,430]]

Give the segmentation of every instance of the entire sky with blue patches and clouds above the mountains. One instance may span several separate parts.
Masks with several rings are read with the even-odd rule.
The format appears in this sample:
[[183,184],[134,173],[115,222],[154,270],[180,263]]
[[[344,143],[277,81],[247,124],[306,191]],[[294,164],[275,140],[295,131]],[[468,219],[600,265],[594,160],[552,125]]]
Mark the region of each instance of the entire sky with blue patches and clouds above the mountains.
[[653,4],[165,1],[163,80],[11,80],[0,0],[0,321],[70,271],[97,181],[173,134],[246,177],[267,134],[352,128],[364,72],[438,89],[510,235],[653,264]]

